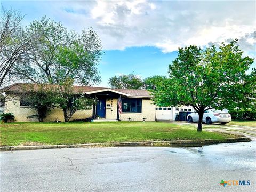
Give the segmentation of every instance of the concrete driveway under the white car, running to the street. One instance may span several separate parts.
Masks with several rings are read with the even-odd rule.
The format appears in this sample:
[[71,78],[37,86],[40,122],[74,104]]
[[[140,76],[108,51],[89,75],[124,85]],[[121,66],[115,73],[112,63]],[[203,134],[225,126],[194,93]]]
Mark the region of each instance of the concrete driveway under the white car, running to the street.
[[[184,126],[186,125],[194,126],[195,129],[197,128],[197,123],[188,123],[188,122],[182,122],[182,121],[172,121],[170,123],[184,125]],[[256,127],[238,126],[238,125],[229,125],[229,124],[221,125],[219,123],[213,123],[211,125],[203,124],[203,130],[243,135],[245,137],[251,138],[252,140],[256,140]]]

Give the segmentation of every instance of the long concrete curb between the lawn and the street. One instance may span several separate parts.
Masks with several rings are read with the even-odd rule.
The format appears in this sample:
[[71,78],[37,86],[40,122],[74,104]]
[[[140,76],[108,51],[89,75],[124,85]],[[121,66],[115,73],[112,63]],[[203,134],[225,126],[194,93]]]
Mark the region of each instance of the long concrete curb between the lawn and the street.
[[239,137],[229,139],[203,139],[178,141],[145,141],[145,142],[117,142],[117,143],[88,143],[71,145],[41,145],[41,146],[8,146],[0,147],[0,151],[33,150],[33,149],[60,149],[76,147],[122,147],[122,146],[159,146],[159,147],[200,147],[218,143],[249,142],[250,138]]

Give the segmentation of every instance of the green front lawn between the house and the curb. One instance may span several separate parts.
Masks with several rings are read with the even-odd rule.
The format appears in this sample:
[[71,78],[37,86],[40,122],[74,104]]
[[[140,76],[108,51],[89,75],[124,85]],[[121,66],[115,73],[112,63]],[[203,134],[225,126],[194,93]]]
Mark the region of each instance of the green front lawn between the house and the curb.
[[193,126],[164,122],[1,123],[0,131],[1,146],[234,137],[206,131],[197,133]]

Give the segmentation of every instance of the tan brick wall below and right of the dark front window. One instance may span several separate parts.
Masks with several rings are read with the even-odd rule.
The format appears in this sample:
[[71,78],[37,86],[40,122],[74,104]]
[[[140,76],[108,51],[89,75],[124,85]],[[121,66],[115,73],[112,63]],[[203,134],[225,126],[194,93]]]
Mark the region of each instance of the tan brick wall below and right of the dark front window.
[[150,99],[142,99],[141,113],[122,113],[120,119],[128,121],[128,117],[130,117],[131,121],[143,121],[142,118],[146,118],[145,121],[155,121],[155,105],[152,102]]

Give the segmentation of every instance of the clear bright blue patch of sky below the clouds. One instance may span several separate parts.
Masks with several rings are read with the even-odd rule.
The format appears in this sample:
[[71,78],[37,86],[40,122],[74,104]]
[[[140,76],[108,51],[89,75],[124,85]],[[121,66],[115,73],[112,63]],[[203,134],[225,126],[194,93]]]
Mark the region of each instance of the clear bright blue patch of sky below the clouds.
[[167,68],[176,57],[176,51],[163,53],[152,46],[106,51],[99,66],[102,85],[105,85],[103,82],[107,82],[109,77],[119,74],[134,73],[143,78],[153,75],[167,76]]

